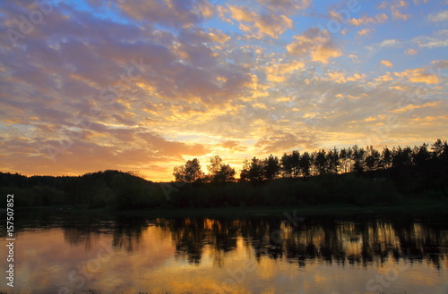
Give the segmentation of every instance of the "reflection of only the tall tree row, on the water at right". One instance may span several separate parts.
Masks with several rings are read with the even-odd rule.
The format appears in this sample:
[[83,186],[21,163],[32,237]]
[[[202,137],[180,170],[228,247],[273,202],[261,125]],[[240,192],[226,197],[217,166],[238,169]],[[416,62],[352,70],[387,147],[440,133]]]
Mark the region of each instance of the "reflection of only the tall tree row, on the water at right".
[[[340,220],[307,218],[297,227],[280,219],[157,219],[159,227],[171,233],[177,256],[199,264],[205,246],[217,253],[237,248],[242,237],[255,256],[286,258],[299,266],[314,260],[338,265],[383,265],[396,261],[426,261],[440,268],[447,256],[446,226],[414,218]],[[280,231],[281,238],[271,232]],[[274,240],[272,240],[274,239]],[[220,255],[218,255],[220,256]],[[218,262],[220,264],[220,262]]]

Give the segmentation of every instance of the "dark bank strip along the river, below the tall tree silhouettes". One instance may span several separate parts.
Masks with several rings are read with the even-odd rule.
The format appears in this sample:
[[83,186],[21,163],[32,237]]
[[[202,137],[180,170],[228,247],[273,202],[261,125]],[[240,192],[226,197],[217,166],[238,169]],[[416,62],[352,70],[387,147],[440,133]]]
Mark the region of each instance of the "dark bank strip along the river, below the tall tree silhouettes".
[[[0,173],[0,175],[2,175]],[[154,183],[132,174],[105,171],[82,177],[24,177],[3,174],[0,191],[14,207],[68,206],[100,210],[213,211],[222,207],[370,207],[428,205],[448,201],[444,169],[409,167],[362,174],[325,174],[261,182]],[[14,180],[14,181],[13,181]],[[1,182],[0,182],[1,184]],[[67,208],[68,209],[68,208]],[[79,208],[78,208],[79,209]],[[231,208],[231,211],[239,208]],[[256,208],[258,210],[258,208]],[[305,209],[308,210],[307,208]]]

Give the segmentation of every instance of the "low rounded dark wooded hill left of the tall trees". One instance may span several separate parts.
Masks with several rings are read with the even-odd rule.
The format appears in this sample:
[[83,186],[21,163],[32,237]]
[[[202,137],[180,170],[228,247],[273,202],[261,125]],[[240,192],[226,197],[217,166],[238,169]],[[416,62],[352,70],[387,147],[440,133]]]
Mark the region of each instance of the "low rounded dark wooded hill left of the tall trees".
[[136,209],[162,204],[159,184],[134,172],[107,170],[82,176],[31,176],[0,172],[0,192],[14,194],[14,206],[87,206]]

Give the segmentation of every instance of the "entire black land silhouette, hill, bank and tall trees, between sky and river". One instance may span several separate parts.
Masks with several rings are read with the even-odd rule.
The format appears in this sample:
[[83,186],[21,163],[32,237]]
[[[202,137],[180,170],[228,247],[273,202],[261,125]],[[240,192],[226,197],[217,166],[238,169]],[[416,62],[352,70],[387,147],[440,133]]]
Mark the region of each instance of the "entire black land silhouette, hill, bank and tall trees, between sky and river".
[[0,172],[0,191],[15,206],[151,207],[390,205],[448,199],[448,144],[420,147],[349,147],[281,158],[246,160],[237,172],[220,156],[208,172],[194,158],[177,166],[176,181],[154,183],[133,172],[105,171],[79,177]]

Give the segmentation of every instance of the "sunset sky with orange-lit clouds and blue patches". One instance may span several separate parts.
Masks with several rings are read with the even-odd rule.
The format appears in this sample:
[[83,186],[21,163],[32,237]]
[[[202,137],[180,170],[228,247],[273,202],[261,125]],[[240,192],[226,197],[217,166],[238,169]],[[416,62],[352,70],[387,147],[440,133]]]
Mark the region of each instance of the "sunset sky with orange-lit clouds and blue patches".
[[448,134],[448,0],[6,0],[0,31],[1,172],[171,181]]

